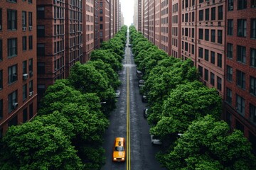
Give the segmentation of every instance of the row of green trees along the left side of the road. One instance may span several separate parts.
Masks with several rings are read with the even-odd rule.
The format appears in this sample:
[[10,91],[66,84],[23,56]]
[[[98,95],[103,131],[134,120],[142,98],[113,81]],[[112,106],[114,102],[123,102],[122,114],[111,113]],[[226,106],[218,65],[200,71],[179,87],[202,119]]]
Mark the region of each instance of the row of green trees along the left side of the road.
[[36,118],[8,129],[0,169],[100,169],[126,35],[124,26],[92,52],[90,62],[76,63],[68,79],[48,87]]

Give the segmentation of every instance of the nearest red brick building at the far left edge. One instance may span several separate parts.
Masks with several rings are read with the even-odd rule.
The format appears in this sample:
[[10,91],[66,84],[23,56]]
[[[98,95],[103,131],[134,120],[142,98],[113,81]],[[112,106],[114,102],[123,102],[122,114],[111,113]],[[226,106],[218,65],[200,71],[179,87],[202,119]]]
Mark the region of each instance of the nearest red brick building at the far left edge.
[[0,138],[37,111],[36,1],[0,4]]

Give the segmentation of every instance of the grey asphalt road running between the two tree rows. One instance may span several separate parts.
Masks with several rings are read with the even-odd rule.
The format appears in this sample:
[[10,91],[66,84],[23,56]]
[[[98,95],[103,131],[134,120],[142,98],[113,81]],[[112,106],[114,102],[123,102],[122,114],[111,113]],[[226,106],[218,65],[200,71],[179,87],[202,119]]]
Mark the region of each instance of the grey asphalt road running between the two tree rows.
[[[143,117],[146,103],[142,103],[142,95],[139,94],[137,66],[130,47],[125,49],[123,66],[122,72],[119,72],[122,81],[119,86],[120,97],[117,98],[117,108],[110,115],[110,126],[105,133],[103,147],[107,159],[102,170],[161,170],[163,168],[155,158],[161,146],[151,144],[149,124]],[[112,162],[115,137],[124,137],[126,140],[125,162]]]

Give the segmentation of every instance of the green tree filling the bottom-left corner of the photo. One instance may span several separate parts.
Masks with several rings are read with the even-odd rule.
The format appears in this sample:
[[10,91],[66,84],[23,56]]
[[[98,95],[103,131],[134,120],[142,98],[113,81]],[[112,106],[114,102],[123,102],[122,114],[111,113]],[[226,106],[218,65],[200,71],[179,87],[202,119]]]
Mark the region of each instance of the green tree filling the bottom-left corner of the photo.
[[12,126],[3,141],[0,169],[82,169],[77,151],[55,125],[34,120]]

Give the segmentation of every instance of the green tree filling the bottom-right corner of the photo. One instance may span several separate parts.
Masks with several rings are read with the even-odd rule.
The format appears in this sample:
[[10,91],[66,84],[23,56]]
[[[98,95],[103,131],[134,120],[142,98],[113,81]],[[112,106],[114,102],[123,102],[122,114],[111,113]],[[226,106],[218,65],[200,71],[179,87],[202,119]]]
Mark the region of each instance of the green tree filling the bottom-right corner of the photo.
[[[255,169],[256,159],[242,132],[213,116],[194,121],[174,149],[159,161],[167,169]],[[160,157],[159,157],[160,158]]]

